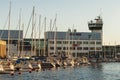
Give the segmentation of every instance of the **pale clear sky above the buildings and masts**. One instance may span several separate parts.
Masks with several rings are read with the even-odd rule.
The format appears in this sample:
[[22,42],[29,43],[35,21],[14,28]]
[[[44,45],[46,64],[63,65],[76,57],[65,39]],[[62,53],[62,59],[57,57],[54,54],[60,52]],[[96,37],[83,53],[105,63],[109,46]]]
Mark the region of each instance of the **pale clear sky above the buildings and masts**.
[[[21,9],[21,23],[24,24],[25,33],[33,6],[35,6],[36,25],[38,25],[39,15],[41,15],[41,23],[46,17],[47,31],[50,20],[53,21],[56,14],[57,31],[67,31],[68,28],[74,28],[78,32],[90,32],[88,21],[101,15],[104,22],[103,44],[120,44],[120,0],[0,0],[0,29],[8,29],[10,1],[10,29],[18,29]],[[41,36],[43,36],[44,30],[42,28],[41,31]],[[30,37],[30,34],[31,29],[29,29],[27,37]]]

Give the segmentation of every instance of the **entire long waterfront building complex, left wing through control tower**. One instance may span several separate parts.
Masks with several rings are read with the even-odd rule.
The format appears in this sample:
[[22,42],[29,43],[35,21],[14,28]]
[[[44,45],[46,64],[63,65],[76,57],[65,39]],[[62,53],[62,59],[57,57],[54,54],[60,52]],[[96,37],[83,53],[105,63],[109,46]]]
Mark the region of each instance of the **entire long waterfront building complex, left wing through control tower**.
[[64,53],[74,57],[102,57],[102,26],[102,19],[98,16],[88,22],[91,32],[78,32],[76,29],[47,31],[44,39],[23,39],[22,30],[9,30],[9,35],[8,30],[0,30],[0,39],[7,42],[7,53],[12,56],[19,54],[49,56]]

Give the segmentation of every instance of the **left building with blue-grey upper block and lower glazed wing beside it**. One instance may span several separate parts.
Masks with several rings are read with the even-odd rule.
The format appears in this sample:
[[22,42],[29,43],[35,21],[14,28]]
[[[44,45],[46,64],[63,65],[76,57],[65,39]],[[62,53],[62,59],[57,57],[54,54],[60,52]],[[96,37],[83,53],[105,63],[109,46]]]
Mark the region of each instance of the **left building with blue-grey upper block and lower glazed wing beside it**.
[[7,57],[41,56],[44,53],[44,39],[23,38],[23,30],[0,30],[0,40],[6,42]]

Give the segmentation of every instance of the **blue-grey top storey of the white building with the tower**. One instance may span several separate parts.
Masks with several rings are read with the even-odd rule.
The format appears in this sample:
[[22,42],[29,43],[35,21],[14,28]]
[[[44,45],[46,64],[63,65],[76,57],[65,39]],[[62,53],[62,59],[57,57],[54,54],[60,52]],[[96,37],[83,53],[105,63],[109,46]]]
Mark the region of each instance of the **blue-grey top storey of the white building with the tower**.
[[101,33],[97,32],[46,32],[46,39],[64,40],[101,40]]

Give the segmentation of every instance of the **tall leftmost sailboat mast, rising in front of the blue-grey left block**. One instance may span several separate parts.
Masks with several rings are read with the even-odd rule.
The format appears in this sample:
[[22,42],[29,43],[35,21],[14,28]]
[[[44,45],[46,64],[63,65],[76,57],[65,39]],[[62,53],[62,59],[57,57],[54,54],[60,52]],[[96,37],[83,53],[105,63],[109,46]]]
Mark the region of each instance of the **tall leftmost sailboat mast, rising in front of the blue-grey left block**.
[[8,54],[7,57],[10,56],[10,19],[11,19],[11,2],[10,2],[10,8],[9,8],[9,21],[8,21]]

